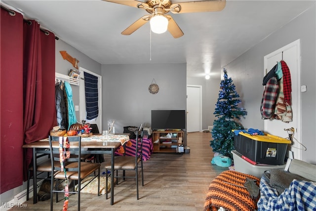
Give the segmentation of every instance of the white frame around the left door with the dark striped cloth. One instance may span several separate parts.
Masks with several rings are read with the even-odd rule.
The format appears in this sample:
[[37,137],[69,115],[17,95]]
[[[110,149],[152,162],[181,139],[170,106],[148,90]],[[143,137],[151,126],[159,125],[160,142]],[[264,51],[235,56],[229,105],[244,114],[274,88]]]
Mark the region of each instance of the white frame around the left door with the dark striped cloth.
[[99,106],[99,114],[98,114],[98,120],[97,120],[96,123],[98,125],[99,131],[102,131],[102,76],[100,76],[100,75],[98,75],[96,73],[93,73],[93,72],[91,72],[89,70],[86,70],[86,69],[84,69],[82,67],[79,67],[79,71],[80,71],[80,88],[79,88],[80,89],[80,91],[79,91],[79,105],[80,106],[79,107],[81,108],[81,109],[79,109],[80,121],[85,119],[84,114],[82,112],[82,106],[85,105],[85,103],[84,103],[85,102],[85,97],[84,97],[85,94],[82,93],[82,91],[81,91],[81,85],[83,84],[83,87],[84,87],[84,81],[83,81],[83,78],[81,78],[81,76],[83,75],[83,72],[86,72],[86,73],[89,73],[89,74],[91,74],[93,76],[98,77],[98,86],[99,86],[98,87],[98,95],[99,95],[99,104],[98,104],[98,106]]

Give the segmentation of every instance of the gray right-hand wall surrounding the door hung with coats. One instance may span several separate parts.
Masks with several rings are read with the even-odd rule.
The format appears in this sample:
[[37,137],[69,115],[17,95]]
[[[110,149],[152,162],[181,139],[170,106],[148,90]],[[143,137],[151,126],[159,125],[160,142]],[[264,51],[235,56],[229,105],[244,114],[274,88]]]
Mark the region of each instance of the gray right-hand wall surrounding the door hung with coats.
[[263,129],[260,114],[263,57],[297,39],[301,40],[301,84],[308,87],[307,92],[301,92],[301,141],[307,147],[307,151],[302,151],[302,160],[316,164],[316,7],[277,30],[226,68],[248,112],[241,123],[246,128]]

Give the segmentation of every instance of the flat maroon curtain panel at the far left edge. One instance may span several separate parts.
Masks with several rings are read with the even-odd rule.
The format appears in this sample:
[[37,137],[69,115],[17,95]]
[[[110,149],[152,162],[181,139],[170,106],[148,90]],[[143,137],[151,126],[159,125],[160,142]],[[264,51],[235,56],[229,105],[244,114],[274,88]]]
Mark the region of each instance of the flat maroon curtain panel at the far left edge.
[[23,182],[23,16],[0,11],[0,193]]

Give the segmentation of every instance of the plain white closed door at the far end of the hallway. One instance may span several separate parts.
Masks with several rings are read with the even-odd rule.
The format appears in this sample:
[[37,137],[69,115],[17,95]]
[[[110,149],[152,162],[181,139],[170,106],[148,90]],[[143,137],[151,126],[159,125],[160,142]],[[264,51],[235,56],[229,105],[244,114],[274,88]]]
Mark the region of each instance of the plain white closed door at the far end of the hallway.
[[202,87],[187,85],[187,132],[201,131]]

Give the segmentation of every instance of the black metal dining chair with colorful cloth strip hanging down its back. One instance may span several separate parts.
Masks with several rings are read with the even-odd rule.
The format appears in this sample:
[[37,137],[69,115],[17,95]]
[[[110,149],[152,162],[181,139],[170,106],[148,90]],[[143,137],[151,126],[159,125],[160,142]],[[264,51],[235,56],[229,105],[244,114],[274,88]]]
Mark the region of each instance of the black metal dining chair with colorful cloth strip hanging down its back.
[[[66,142],[66,143],[65,143]],[[69,145],[70,147],[68,147]],[[86,187],[93,179],[98,178],[98,196],[100,195],[100,164],[81,162],[81,136],[59,137],[49,136],[49,148],[51,156],[51,197],[50,210],[53,210],[53,193],[56,193],[56,202],[58,202],[58,193],[67,193],[65,189],[58,187],[61,183],[73,180],[78,181],[77,190],[68,191],[68,193],[78,194],[78,211],[80,210],[80,191]],[[62,152],[61,152],[62,151]],[[70,153],[76,156],[70,156]],[[63,156],[63,159],[60,157]],[[63,164],[56,165],[56,161],[63,160]],[[63,166],[63,168],[62,168]],[[97,171],[97,174],[94,172]],[[91,177],[88,183],[81,187],[81,180]],[[56,183],[54,184],[54,180]]]

